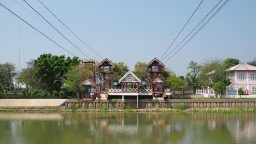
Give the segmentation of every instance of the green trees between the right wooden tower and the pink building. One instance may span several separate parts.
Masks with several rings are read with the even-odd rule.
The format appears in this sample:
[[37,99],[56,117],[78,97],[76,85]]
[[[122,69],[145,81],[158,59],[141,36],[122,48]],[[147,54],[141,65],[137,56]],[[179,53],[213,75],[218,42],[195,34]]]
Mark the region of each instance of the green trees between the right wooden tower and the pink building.
[[[192,88],[193,93],[197,88],[210,87],[217,92],[225,91],[226,87],[230,85],[230,79],[226,76],[227,71],[231,67],[241,63],[236,58],[210,59],[203,61],[202,64],[191,61],[188,65],[190,70],[185,77],[172,75],[167,79],[168,85],[174,91],[185,91],[185,89]],[[247,62],[250,65],[256,66],[256,58]]]

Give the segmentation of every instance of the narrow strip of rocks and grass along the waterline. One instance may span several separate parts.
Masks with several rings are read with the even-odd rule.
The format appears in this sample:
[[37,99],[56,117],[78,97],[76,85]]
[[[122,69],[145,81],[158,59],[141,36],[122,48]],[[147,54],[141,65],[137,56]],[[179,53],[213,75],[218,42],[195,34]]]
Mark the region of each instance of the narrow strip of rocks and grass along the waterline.
[[67,112],[67,113],[76,113],[76,112],[126,112],[126,113],[134,113],[134,112],[160,112],[160,113],[256,113],[256,109],[253,108],[184,108],[184,107],[176,107],[175,109],[170,108],[152,108],[152,109],[108,109],[107,107],[103,107],[100,109],[80,109],[79,107],[72,107],[71,109],[65,109],[65,107],[61,106],[48,106],[48,107],[0,107],[0,112],[2,113],[11,113],[11,112]]

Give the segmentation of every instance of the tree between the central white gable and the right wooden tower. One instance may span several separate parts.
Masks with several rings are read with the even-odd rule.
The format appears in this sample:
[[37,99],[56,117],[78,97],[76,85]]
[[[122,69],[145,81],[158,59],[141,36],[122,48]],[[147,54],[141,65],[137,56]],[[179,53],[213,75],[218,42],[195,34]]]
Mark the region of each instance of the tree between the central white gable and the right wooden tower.
[[146,81],[149,83],[149,74],[148,74],[148,66],[145,62],[137,62],[134,67],[133,73],[141,79],[141,81]]

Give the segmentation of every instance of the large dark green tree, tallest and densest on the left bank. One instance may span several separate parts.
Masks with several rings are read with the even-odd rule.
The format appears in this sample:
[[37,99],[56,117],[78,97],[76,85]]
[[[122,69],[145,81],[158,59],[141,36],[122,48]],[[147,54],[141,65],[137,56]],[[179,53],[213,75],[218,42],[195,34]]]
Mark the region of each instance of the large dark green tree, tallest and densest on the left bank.
[[46,91],[53,93],[59,91],[63,82],[63,75],[74,65],[79,63],[78,57],[65,58],[62,56],[52,56],[49,54],[40,55],[35,61],[37,69],[34,74],[44,84]]

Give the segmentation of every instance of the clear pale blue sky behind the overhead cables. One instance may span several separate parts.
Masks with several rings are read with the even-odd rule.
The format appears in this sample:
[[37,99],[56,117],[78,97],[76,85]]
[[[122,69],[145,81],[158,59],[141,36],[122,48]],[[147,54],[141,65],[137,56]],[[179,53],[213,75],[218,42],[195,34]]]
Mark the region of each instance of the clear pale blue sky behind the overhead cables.
[[[16,0],[32,11],[22,0]],[[69,51],[85,58],[53,29],[45,26],[13,0],[0,2],[49,35]],[[46,19],[74,41],[89,57],[101,59],[69,33],[38,1],[27,0]],[[69,28],[102,57],[123,61],[131,69],[138,61],[160,58],[201,0],[197,1],[67,1],[42,0]],[[218,0],[205,0],[173,46],[176,46]],[[34,11],[32,11],[34,13]],[[34,13],[35,14],[35,13]],[[188,63],[211,58],[256,57],[256,1],[231,0],[208,25],[166,64],[177,75],[185,75]],[[0,7],[0,63],[18,67],[21,26],[21,68],[42,53],[69,54]],[[172,48],[171,48],[172,49]]]

